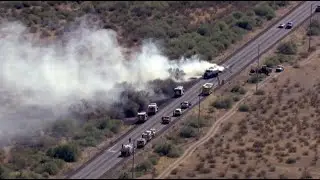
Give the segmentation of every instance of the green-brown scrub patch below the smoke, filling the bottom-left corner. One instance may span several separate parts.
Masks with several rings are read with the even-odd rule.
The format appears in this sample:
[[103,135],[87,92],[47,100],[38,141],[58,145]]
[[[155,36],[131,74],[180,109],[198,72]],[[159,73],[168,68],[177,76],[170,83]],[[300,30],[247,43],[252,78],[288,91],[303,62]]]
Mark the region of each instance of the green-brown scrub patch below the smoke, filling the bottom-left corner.
[[[48,178],[67,164],[77,162],[81,151],[94,147],[123,129],[122,121],[109,118],[56,121],[44,134],[18,137],[9,154],[1,152],[1,178]],[[9,159],[4,157],[10,157]]]

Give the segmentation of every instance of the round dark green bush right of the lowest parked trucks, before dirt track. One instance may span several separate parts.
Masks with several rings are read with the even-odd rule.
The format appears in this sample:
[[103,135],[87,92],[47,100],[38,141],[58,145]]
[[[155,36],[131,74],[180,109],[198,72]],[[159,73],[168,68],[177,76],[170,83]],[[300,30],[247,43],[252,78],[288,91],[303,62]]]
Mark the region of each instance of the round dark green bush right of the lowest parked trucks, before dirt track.
[[168,156],[171,158],[179,157],[181,155],[181,150],[168,142],[156,145],[155,152],[160,156]]

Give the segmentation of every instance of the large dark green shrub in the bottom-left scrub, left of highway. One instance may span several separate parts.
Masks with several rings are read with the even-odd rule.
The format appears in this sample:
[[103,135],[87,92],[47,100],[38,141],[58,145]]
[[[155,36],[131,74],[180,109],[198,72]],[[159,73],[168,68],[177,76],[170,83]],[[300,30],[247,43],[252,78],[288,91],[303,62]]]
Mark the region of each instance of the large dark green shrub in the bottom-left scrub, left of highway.
[[64,144],[64,145],[59,145],[55,148],[50,148],[47,151],[47,155],[50,157],[62,159],[66,162],[75,162],[77,161],[80,155],[80,152],[77,145]]

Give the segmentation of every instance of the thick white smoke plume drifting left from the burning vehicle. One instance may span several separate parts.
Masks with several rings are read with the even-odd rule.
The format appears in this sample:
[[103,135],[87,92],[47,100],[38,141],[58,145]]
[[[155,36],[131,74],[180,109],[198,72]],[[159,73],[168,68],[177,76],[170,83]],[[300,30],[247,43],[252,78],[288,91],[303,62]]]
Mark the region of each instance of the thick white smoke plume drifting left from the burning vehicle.
[[170,78],[170,68],[183,70],[188,79],[213,65],[196,57],[169,61],[151,41],[126,56],[112,30],[80,26],[63,41],[47,44],[26,38],[26,31],[18,22],[0,25],[2,134],[64,116],[82,99],[116,102],[117,83],[152,91],[147,82]]

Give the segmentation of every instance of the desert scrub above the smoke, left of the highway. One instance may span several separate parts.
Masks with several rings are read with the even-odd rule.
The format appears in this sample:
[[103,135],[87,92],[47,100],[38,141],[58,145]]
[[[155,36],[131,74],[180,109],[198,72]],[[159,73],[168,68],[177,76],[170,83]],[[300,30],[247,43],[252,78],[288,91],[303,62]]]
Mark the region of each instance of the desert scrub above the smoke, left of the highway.
[[[59,37],[84,15],[117,31],[120,42],[161,40],[172,59],[201,54],[212,60],[235,41],[275,17],[289,1],[15,1],[0,2],[1,19],[20,20],[31,33]],[[226,16],[227,15],[227,16]]]

